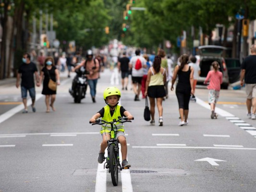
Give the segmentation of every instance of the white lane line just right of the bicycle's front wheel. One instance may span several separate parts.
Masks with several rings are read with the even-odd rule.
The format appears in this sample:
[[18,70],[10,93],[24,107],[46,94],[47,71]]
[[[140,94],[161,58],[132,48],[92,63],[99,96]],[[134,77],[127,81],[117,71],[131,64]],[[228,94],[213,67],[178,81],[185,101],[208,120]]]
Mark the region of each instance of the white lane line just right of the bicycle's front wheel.
[[[120,159],[120,163],[121,163],[121,166],[122,166],[121,147],[119,147],[119,159]],[[127,156],[126,156],[126,160],[128,161]],[[122,180],[122,192],[133,192],[133,185],[132,185],[130,169],[122,169],[122,171],[121,171],[121,180]]]

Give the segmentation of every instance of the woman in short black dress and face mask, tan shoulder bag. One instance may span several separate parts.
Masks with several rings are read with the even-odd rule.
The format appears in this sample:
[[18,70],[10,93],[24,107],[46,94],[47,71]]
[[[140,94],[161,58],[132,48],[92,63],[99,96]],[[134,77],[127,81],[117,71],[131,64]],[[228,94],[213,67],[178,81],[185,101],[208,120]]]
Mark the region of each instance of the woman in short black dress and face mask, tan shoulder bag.
[[54,65],[54,60],[52,57],[47,57],[45,59],[44,68],[42,69],[40,73],[40,81],[39,84],[41,84],[43,80],[43,90],[42,94],[45,95],[45,103],[46,103],[46,112],[50,112],[50,107],[53,111],[56,109],[54,108],[54,101],[56,98],[56,91],[53,91],[49,89],[48,84],[49,80],[51,79],[54,82],[57,82],[57,84],[60,84],[60,76],[58,69]]

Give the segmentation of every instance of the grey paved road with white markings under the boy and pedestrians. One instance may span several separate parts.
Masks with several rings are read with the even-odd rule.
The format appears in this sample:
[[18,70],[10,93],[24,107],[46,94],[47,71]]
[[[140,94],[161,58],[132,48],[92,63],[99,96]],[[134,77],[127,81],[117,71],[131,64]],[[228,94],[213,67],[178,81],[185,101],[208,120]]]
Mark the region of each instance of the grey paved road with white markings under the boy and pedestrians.
[[105,105],[110,75],[101,74],[97,103],[87,92],[74,104],[68,93],[72,79],[63,74],[57,111],[50,113],[45,113],[42,87],[37,112],[22,114],[22,105],[14,103],[21,102],[20,90],[0,85],[0,192],[255,191],[256,120],[246,117],[245,93],[221,90],[219,118],[211,120],[205,88],[196,89],[197,101],[190,103],[189,124],[183,127],[173,92],[164,101],[164,126],[158,127],[143,119],[144,100],[134,102],[131,90],[122,91],[121,103],[135,118],[126,123],[132,167],[113,187],[97,162],[100,128],[88,123]]

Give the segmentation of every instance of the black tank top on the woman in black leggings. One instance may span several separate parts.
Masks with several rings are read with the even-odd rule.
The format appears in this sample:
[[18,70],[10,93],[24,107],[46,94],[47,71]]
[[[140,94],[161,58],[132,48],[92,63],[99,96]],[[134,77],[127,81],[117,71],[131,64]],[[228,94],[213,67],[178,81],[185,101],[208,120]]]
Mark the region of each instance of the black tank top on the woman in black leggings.
[[188,71],[183,72],[179,71],[178,72],[178,84],[176,86],[176,91],[180,92],[182,91],[183,93],[191,93],[191,85],[190,85],[190,73],[191,69],[190,66],[188,68]]

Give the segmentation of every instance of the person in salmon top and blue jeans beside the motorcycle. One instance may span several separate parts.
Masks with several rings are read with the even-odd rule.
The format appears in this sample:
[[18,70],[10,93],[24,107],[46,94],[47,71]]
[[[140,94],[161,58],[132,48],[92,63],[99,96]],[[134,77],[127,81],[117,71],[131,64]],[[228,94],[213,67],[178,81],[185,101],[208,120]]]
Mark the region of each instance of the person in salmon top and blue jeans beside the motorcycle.
[[90,86],[90,94],[92,96],[93,103],[96,103],[95,96],[96,96],[96,86],[99,78],[99,62],[97,59],[93,58],[92,50],[87,50],[86,53],[86,60],[82,61],[80,65],[77,65],[73,68],[73,72],[76,69],[84,66],[85,70],[89,72],[87,77],[88,84]]

